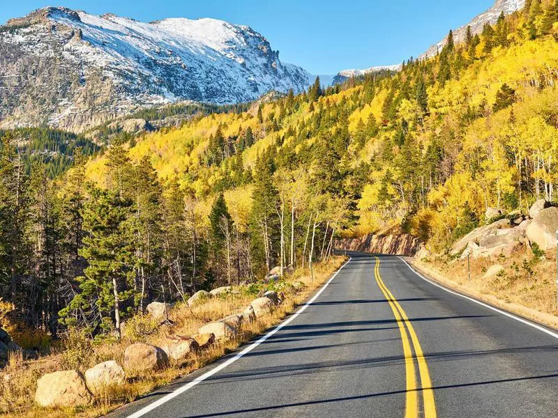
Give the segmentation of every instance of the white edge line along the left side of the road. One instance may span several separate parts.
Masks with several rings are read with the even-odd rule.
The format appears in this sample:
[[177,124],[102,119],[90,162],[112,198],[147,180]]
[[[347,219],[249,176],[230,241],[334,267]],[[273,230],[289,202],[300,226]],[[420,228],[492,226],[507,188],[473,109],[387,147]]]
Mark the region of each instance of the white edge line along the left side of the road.
[[333,274],[333,276],[331,276],[331,278],[326,281],[326,284],[324,284],[322,286],[322,288],[319,289],[319,291],[317,291],[317,293],[312,297],[312,299],[308,300],[308,302],[306,302],[306,304],[303,305],[303,307],[301,307],[301,309],[299,309],[298,311],[296,311],[295,314],[292,314],[292,316],[289,316],[289,318],[287,318],[286,320],[284,320],[282,323],[280,323],[279,325],[277,325],[275,328],[273,328],[273,330],[271,330],[270,332],[268,332],[267,334],[265,334],[264,336],[262,336],[260,339],[258,339],[257,341],[253,342],[250,344],[250,346],[244,348],[244,350],[242,350],[240,353],[236,354],[234,357],[231,357],[230,359],[228,359],[226,362],[224,362],[223,364],[220,364],[219,366],[215,367],[214,369],[211,369],[210,371],[202,374],[202,376],[199,376],[197,378],[195,378],[194,380],[192,380],[191,382],[186,383],[186,385],[183,385],[181,387],[179,387],[178,389],[174,390],[174,392],[171,392],[165,396],[163,396],[163,398],[159,398],[157,401],[150,403],[149,405],[145,406],[144,408],[140,409],[137,412],[134,412],[132,415],[128,415],[128,418],[140,418],[143,415],[145,415],[147,412],[151,412],[152,410],[154,410],[155,408],[157,408],[160,405],[163,405],[163,403],[167,403],[168,401],[170,401],[172,398],[176,398],[176,396],[179,396],[180,394],[183,394],[184,392],[186,392],[188,389],[191,389],[192,387],[194,387],[195,385],[197,385],[198,383],[203,382],[204,380],[206,380],[207,378],[213,376],[215,373],[218,373],[218,371],[221,371],[223,369],[225,369],[225,367],[233,364],[234,362],[236,362],[236,360],[240,359],[241,357],[243,357],[243,355],[246,355],[248,353],[250,353],[250,351],[252,351],[254,348],[256,348],[257,346],[259,346],[259,344],[263,343],[264,341],[266,341],[266,339],[269,339],[270,336],[272,336],[273,334],[275,334],[276,332],[278,332],[282,327],[285,327],[285,325],[287,325],[288,323],[290,323],[292,320],[294,320],[297,316],[299,316],[300,314],[303,313],[303,311],[306,310],[306,308],[308,308],[316,299],[317,297],[319,297],[319,295],[322,294],[322,292],[325,290],[325,288],[331,283],[331,281],[333,279],[335,279],[335,276],[337,276],[337,274],[342,270],[342,268],[345,267],[345,265],[347,265],[350,261],[352,260],[351,257],[349,257],[349,260],[347,260],[347,262],[345,264],[343,264],[336,272],[335,274]]

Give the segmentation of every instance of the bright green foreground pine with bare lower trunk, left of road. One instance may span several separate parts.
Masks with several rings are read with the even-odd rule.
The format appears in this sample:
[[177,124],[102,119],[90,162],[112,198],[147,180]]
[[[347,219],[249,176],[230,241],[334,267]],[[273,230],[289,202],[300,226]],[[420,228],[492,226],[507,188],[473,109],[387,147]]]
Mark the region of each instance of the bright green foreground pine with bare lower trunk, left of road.
[[118,192],[91,188],[84,208],[88,235],[80,255],[87,261],[84,276],[77,277],[80,292],[60,311],[66,325],[78,325],[81,315],[86,331],[114,330],[121,335],[121,320],[133,309],[134,239],[130,226],[132,203]]

